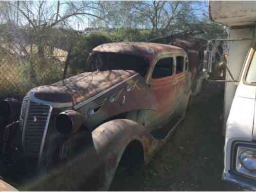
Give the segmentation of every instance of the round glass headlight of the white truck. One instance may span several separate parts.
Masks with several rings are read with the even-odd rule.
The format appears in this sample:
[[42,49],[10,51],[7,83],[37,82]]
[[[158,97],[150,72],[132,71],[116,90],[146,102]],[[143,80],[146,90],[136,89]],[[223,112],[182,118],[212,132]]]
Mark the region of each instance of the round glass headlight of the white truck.
[[239,159],[244,168],[256,172],[256,151],[246,150],[241,153]]

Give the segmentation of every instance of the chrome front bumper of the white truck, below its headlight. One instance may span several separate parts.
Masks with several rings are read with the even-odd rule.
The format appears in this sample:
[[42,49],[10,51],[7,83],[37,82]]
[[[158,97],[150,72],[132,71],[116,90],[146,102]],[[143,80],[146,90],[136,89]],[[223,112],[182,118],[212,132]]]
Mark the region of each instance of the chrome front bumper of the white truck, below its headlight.
[[222,179],[224,181],[228,181],[236,185],[239,185],[243,188],[256,191],[256,181],[248,179],[246,177],[235,175],[230,172],[226,172],[226,170],[224,170],[222,174]]

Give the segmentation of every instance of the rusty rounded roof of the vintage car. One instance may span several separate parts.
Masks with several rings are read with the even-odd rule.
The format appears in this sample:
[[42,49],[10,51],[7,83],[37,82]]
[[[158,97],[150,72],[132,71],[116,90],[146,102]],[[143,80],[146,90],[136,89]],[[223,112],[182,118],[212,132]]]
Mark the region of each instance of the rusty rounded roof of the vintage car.
[[130,55],[140,55],[144,57],[164,53],[185,53],[185,51],[176,46],[166,44],[156,44],[153,42],[112,42],[102,44],[92,50],[92,52],[121,53]]

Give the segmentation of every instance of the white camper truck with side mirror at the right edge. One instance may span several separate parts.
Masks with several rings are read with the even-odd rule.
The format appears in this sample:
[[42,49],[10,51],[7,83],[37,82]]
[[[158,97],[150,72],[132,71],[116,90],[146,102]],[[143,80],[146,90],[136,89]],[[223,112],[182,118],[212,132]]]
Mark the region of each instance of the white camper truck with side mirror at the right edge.
[[204,59],[211,76],[216,44],[227,42],[226,77],[219,80],[225,82],[223,179],[256,190],[256,2],[210,1],[209,14],[229,30],[227,39],[208,41]]

